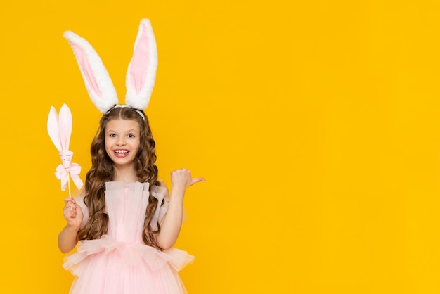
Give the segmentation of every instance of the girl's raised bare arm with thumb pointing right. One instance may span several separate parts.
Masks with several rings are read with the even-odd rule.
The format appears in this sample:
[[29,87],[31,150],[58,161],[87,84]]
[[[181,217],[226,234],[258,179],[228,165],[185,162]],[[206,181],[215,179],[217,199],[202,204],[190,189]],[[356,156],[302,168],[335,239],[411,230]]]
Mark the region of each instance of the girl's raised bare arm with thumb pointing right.
[[171,248],[177,241],[183,218],[183,198],[186,188],[205,179],[192,178],[190,170],[181,169],[171,173],[172,191],[169,196],[167,213],[162,219],[160,233],[157,234],[157,245],[162,249]]

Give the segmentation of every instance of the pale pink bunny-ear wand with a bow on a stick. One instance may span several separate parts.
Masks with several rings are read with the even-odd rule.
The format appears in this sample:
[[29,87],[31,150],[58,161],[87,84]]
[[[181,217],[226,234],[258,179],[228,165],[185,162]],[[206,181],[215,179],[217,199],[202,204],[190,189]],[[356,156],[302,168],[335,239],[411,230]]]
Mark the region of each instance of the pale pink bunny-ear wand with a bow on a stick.
[[61,180],[62,191],[65,191],[67,185],[69,186],[69,197],[72,197],[70,177],[72,177],[78,190],[82,188],[83,183],[79,178],[81,167],[77,163],[72,163],[73,152],[69,150],[70,135],[72,134],[72,113],[67,105],[63,104],[61,106],[59,116],[56,109],[51,106],[47,119],[47,131],[53,144],[60,152],[62,162],[56,167],[55,176]]

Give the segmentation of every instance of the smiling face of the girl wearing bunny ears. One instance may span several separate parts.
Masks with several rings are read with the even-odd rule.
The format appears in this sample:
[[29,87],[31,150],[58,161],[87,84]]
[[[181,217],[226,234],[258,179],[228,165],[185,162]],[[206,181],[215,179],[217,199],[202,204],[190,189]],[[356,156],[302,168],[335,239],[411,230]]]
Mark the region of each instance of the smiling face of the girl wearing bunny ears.
[[119,167],[134,165],[140,139],[136,120],[110,120],[105,125],[105,151]]

